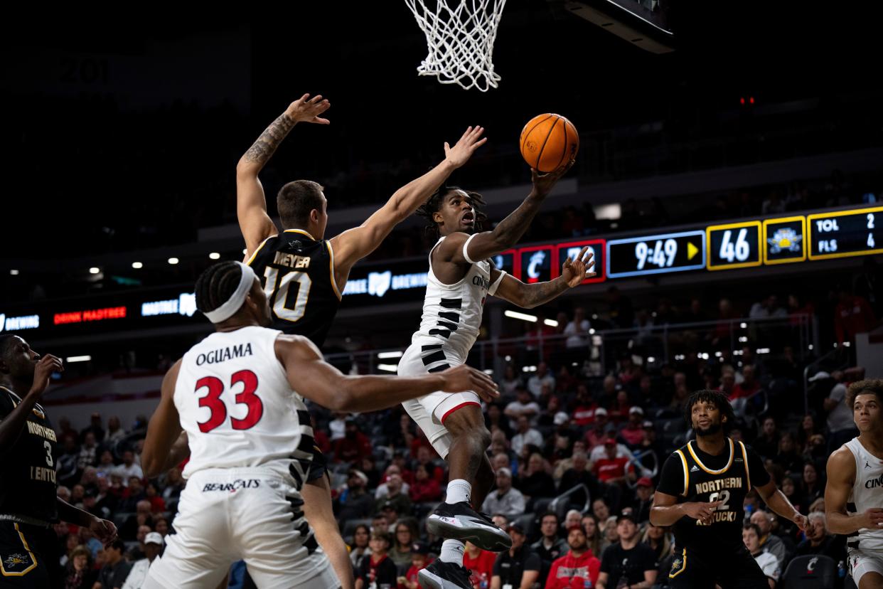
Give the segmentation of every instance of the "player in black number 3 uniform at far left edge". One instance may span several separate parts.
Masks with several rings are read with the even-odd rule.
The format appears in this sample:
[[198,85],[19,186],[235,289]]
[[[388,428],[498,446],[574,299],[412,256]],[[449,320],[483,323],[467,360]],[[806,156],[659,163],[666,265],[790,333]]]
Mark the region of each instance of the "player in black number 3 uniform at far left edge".
[[64,586],[52,524],[59,519],[94,532],[105,544],[117,537],[106,519],[78,510],[56,495],[56,433],[40,404],[61,360],[40,356],[19,336],[0,336],[0,586]]

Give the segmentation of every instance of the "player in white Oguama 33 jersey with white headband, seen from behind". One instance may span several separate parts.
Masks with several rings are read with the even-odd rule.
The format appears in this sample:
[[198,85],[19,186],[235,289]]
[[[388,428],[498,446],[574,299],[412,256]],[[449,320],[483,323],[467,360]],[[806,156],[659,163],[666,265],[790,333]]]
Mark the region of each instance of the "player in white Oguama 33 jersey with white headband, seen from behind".
[[417,378],[341,374],[306,337],[262,327],[271,321],[267,295],[240,262],[203,272],[196,298],[216,332],[166,374],[141,457],[155,476],[180,458],[175,442],[187,433],[176,533],[144,586],[215,589],[243,559],[261,589],[338,587],[304,517],[314,442],[303,398],[367,412],[438,389],[472,387],[493,400],[494,383],[466,366]]

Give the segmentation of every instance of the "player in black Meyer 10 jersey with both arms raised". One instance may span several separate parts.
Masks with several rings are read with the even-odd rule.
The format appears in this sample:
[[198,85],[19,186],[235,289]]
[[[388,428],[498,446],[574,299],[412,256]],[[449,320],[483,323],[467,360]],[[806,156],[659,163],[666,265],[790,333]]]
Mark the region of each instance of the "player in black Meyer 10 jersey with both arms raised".
[[[343,287],[355,263],[374,252],[397,223],[413,214],[429,196],[485,143],[481,127],[469,127],[454,147],[444,144],[445,159],[423,176],[398,189],[365,223],[325,239],[328,201],[322,186],[309,180],[283,185],[276,196],[280,232],[267,215],[267,201],[258,174],[298,123],[328,125],[321,115],[330,103],[321,95],[304,94],[291,102],[239,160],[236,169],[237,215],[245,238],[245,262],[269,298],[273,328],[306,336],[320,347],[340,305]],[[306,519],[334,565],[343,589],[354,586],[352,567],[341,538],[318,449],[304,487]]]

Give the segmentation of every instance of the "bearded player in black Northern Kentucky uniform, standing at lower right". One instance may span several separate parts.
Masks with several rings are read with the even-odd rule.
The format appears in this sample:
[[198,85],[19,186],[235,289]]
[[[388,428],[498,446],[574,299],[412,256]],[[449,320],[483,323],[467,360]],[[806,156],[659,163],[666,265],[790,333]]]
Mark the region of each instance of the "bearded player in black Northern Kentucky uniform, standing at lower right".
[[727,435],[733,408],[716,390],[698,390],[684,408],[696,440],[662,466],[650,522],[675,526],[675,562],[668,583],[675,589],[768,589],[764,573],[742,541],[743,501],[751,487],[771,510],[801,530],[806,517],[776,488],[762,459]]

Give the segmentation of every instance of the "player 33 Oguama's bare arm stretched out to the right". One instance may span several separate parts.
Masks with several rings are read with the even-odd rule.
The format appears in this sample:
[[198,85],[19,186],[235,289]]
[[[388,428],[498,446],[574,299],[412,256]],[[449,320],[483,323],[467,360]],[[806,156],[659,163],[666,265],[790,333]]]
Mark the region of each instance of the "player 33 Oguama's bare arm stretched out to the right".
[[[336,412],[380,411],[436,390],[472,390],[487,402],[500,396],[487,374],[466,365],[411,378],[348,376],[325,362],[319,348],[306,337],[279,336],[275,352],[288,374],[291,389]],[[148,437],[149,434],[148,430]]]

